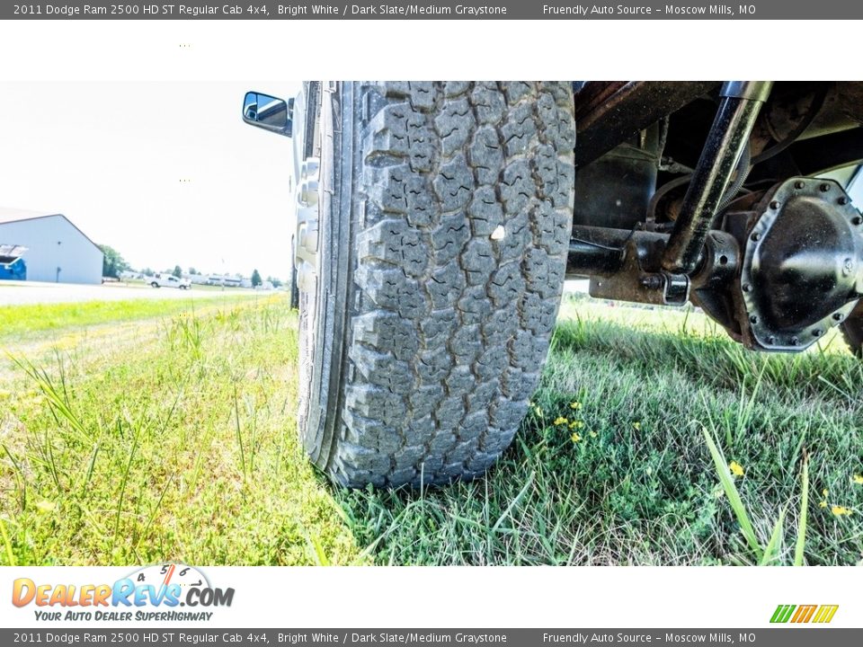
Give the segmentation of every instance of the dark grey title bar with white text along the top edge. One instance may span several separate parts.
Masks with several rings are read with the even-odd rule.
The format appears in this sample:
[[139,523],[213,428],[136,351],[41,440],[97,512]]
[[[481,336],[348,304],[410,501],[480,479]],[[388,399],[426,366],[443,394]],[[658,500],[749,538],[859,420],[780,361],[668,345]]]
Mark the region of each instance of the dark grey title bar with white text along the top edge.
[[847,0],[744,0],[744,4],[639,2],[577,4],[538,0],[457,2],[260,2],[3,4],[3,20],[856,20]]

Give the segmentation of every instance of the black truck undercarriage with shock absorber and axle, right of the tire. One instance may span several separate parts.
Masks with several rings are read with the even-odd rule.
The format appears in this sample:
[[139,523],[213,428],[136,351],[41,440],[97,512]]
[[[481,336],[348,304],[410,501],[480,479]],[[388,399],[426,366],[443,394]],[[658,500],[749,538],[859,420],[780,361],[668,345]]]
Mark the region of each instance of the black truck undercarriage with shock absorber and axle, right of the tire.
[[[594,297],[691,301],[756,350],[856,332],[857,83],[576,84],[568,276]],[[847,322],[847,323],[846,323]]]

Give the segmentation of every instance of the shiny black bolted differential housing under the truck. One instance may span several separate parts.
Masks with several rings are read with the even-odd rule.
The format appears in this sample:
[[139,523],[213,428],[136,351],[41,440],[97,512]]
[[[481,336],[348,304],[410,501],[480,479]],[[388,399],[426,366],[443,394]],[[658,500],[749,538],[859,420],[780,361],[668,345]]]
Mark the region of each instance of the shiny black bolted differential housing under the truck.
[[796,177],[767,191],[748,223],[734,295],[743,343],[803,350],[863,295],[863,217],[838,183]]

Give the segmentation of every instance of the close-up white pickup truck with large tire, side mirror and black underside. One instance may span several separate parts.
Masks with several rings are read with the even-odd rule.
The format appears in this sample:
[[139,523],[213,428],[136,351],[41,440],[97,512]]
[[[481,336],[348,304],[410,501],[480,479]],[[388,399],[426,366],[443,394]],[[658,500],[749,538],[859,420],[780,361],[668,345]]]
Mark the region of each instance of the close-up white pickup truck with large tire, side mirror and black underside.
[[298,430],[337,483],[483,474],[567,278],[863,355],[863,83],[309,82],[243,119],[291,138]]

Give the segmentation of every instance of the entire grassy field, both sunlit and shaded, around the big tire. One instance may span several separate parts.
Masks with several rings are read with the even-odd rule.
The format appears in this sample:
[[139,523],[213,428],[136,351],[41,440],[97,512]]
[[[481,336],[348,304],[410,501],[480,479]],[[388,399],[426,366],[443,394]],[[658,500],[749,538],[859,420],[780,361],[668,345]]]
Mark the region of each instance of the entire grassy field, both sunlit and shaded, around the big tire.
[[[45,322],[51,322],[47,325]],[[0,307],[0,563],[857,564],[863,365],[568,297],[484,479],[344,491],[281,295]]]

